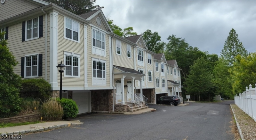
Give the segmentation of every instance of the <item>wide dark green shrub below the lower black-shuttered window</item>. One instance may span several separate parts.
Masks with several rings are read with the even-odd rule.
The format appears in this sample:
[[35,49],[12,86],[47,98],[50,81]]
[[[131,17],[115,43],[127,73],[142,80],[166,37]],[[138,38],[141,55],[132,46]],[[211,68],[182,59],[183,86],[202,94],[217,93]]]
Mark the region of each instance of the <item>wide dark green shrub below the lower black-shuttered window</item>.
[[51,84],[44,79],[24,79],[21,81],[20,96],[22,98],[31,97],[34,99],[41,99],[51,97]]

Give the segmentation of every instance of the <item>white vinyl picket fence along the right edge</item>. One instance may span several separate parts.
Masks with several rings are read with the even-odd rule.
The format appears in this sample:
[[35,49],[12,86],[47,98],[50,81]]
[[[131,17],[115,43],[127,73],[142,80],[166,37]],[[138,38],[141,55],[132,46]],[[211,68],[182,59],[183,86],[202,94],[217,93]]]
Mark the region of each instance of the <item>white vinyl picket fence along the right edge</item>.
[[[256,84],[255,84],[256,86]],[[245,92],[235,96],[235,104],[256,122],[256,88],[246,87]]]

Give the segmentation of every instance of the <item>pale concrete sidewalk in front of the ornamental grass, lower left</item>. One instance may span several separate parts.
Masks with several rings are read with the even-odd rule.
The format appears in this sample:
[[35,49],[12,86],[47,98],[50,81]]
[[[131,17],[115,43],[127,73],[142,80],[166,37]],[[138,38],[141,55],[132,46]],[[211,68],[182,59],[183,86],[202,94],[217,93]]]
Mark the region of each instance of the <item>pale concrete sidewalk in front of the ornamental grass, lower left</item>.
[[12,126],[0,128],[0,134],[12,135],[12,134],[27,134],[27,133],[35,133],[42,132],[57,128],[64,128],[75,126],[78,124],[83,124],[79,120],[76,121],[58,121],[58,122],[42,122],[36,124],[28,124],[28,125],[20,125],[20,126]]

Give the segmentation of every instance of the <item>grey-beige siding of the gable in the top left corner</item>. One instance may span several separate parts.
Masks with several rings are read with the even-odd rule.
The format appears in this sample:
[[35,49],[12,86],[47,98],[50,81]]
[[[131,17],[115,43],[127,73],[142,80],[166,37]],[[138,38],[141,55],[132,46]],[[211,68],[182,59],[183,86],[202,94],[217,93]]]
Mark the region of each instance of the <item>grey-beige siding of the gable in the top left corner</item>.
[[27,0],[6,0],[4,4],[0,4],[0,21],[38,7],[41,6]]

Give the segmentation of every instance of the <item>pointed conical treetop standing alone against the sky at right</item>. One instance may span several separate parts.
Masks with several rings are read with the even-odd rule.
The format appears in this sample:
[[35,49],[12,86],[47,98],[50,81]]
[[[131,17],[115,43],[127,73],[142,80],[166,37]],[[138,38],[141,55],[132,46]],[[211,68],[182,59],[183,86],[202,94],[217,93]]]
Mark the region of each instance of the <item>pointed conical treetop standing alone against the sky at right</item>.
[[232,28],[229,32],[228,38],[224,43],[224,48],[221,51],[221,57],[228,61],[229,65],[233,65],[236,55],[247,56],[248,52],[245,50],[243,43],[238,39],[238,34]]

